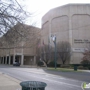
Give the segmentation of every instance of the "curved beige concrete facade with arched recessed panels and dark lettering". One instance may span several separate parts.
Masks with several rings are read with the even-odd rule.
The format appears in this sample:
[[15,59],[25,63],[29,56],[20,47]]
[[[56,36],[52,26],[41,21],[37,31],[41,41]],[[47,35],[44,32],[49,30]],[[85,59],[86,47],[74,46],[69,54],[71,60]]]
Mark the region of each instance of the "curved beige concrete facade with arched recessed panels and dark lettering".
[[48,44],[51,34],[56,35],[57,42],[70,42],[70,64],[79,64],[90,42],[90,4],[67,4],[47,12],[42,18],[44,43]]

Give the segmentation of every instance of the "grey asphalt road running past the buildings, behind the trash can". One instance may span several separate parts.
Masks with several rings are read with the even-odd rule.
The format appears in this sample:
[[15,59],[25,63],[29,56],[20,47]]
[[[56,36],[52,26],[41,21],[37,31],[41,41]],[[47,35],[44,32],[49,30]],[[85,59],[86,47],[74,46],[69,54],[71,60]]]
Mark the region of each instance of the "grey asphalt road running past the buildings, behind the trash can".
[[[0,65],[0,72],[8,74],[21,81],[45,82],[47,84],[45,90],[82,90],[81,84],[84,82],[83,80],[77,80],[77,79],[75,80],[75,78],[74,79],[70,78],[70,75],[72,76],[75,73],[74,74],[72,73],[69,74],[69,72],[58,73],[58,72],[48,71],[46,69],[43,70],[40,68],[20,68],[20,67]],[[55,75],[55,73],[57,75]],[[65,77],[65,74],[66,76],[69,75],[69,77]],[[80,77],[80,73],[77,73],[76,75],[77,76],[79,75]],[[87,74],[83,74],[83,75],[87,76]]]

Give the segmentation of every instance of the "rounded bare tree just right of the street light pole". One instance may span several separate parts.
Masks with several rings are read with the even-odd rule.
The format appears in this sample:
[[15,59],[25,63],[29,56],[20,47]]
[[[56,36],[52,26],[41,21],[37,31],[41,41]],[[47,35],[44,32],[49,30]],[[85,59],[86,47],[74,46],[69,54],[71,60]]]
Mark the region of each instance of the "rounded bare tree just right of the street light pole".
[[58,42],[57,53],[59,54],[62,63],[65,64],[67,60],[70,60],[71,56],[70,43],[67,41]]

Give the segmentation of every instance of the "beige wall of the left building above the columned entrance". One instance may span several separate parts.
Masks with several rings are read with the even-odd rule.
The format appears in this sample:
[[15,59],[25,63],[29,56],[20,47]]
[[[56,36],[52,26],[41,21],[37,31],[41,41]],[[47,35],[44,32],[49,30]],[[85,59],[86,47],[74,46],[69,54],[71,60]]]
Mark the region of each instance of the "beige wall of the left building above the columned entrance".
[[[13,38],[13,41],[15,42],[14,44],[7,44],[4,36],[0,38],[1,41],[5,42],[5,44],[3,44],[2,46],[0,46],[1,48],[5,48],[5,49],[0,49],[0,56],[6,56],[10,53],[10,55],[14,55],[15,54],[21,54],[22,50],[23,50],[23,54],[28,55],[28,56],[34,56],[36,55],[36,46],[37,46],[37,40],[38,38],[41,38],[41,29],[37,28],[37,27],[33,27],[33,26],[29,26],[29,25],[24,25],[23,26],[15,26],[18,30],[18,32],[22,32],[22,34],[24,34],[24,37],[18,36],[18,38],[20,38],[20,40],[15,41],[15,39],[11,36],[11,38]],[[9,30],[8,35],[10,36],[13,33],[13,31]],[[14,32],[16,33],[16,32]],[[17,33],[16,33],[17,36]],[[9,48],[9,49],[6,49]]]

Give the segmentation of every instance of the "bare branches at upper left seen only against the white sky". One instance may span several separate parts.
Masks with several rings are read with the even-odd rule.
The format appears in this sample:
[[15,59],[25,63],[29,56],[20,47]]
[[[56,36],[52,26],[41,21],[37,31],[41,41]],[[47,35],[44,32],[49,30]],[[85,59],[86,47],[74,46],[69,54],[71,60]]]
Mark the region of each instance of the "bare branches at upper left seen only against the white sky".
[[0,34],[5,34],[17,22],[22,23],[26,15],[17,0],[0,0]]

